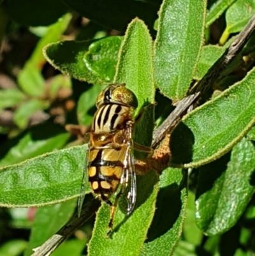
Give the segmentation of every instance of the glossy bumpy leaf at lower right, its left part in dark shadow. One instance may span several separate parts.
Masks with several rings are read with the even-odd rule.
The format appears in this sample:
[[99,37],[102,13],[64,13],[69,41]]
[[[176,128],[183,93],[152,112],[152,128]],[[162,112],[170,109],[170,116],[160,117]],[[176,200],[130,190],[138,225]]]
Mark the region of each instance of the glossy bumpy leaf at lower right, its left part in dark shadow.
[[196,222],[205,234],[221,234],[237,223],[254,191],[254,166],[254,145],[244,138],[233,147],[231,158],[226,154],[198,169]]

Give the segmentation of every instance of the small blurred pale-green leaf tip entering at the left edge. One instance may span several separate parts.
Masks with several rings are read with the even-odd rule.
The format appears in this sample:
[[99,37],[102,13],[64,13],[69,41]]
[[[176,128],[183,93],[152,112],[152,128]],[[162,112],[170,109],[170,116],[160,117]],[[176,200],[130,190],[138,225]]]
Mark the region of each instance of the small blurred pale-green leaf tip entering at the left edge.
[[25,95],[18,89],[6,89],[0,91],[0,110],[13,107],[25,100]]

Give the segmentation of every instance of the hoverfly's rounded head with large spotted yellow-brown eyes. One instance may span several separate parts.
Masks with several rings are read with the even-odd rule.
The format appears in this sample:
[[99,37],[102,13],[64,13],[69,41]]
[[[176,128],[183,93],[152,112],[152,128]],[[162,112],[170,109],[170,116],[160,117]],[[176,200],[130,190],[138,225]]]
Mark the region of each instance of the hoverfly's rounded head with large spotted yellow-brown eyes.
[[97,107],[107,103],[119,103],[135,109],[138,107],[135,94],[126,88],[125,84],[111,84],[98,95],[96,100]]

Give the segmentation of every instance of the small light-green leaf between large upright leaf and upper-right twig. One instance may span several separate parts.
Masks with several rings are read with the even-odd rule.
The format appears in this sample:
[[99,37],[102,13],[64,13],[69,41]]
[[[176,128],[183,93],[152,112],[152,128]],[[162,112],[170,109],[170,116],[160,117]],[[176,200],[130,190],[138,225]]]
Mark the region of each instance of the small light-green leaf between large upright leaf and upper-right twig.
[[201,80],[209,68],[222,56],[225,49],[216,45],[205,45],[202,47],[201,56],[194,73],[194,79]]

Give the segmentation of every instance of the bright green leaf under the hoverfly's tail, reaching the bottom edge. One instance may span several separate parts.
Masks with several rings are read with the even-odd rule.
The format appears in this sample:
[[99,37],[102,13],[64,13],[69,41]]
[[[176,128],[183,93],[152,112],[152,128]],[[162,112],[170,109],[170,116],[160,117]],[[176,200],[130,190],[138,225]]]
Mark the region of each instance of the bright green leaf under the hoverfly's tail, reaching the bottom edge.
[[114,218],[113,234],[110,238],[105,237],[110,217],[109,207],[103,204],[99,209],[94,232],[89,243],[89,256],[139,255],[155,211],[157,174],[150,171],[146,175],[137,178],[135,210],[128,217],[120,209],[117,210]]

